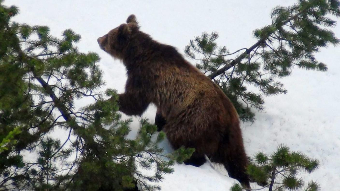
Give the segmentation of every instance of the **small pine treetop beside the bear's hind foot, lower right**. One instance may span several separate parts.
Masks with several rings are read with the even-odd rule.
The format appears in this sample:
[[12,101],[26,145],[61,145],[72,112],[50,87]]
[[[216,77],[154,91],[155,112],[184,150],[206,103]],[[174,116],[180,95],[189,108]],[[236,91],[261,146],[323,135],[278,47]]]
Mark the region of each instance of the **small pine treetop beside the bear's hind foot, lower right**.
[[[279,146],[271,156],[259,152],[251,159],[247,174],[268,191],[305,190],[318,191],[319,185],[311,181],[304,187],[304,181],[297,178],[300,172],[311,173],[319,168],[319,161],[308,158],[301,152],[291,152],[287,146]],[[234,184],[231,191],[243,190]],[[261,189],[257,189],[261,190]],[[266,189],[267,190],[267,189]]]

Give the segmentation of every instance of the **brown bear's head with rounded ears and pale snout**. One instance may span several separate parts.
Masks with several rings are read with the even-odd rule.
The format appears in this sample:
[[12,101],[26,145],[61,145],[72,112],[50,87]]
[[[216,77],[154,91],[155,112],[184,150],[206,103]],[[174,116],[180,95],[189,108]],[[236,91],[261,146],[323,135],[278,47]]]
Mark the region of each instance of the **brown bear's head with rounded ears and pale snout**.
[[130,15],[123,23],[97,39],[99,47],[115,58],[123,59],[132,38],[138,33],[139,26],[135,15]]

